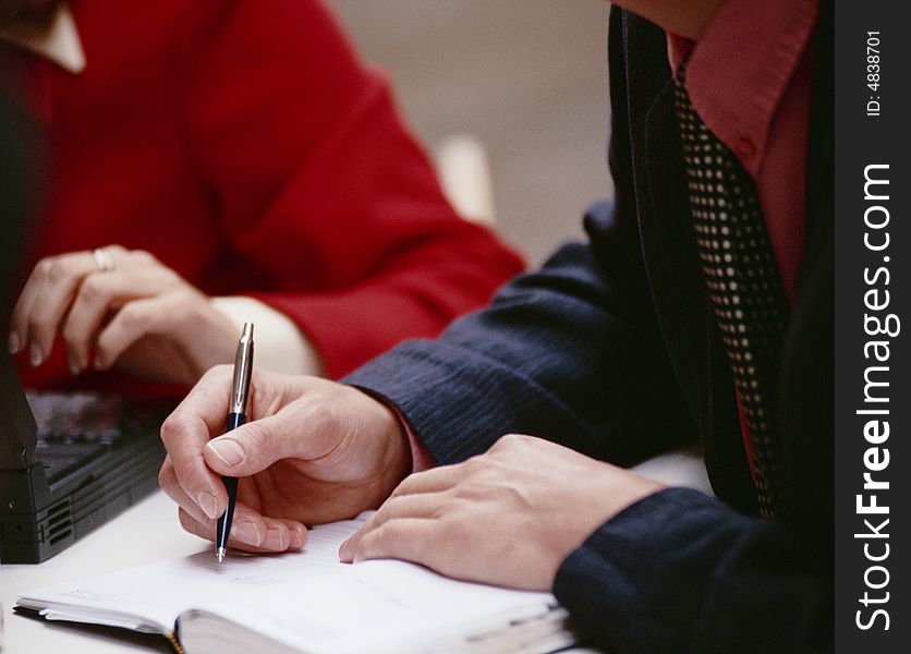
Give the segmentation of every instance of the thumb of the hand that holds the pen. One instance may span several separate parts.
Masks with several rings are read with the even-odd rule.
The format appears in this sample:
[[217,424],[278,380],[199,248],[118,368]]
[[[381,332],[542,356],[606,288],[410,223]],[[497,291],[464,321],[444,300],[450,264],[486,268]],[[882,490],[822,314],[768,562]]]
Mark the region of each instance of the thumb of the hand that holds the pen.
[[304,429],[300,422],[272,415],[212,438],[203,448],[203,458],[218,474],[251,476],[281,459],[321,456],[325,443],[319,447],[314,440],[313,431]]

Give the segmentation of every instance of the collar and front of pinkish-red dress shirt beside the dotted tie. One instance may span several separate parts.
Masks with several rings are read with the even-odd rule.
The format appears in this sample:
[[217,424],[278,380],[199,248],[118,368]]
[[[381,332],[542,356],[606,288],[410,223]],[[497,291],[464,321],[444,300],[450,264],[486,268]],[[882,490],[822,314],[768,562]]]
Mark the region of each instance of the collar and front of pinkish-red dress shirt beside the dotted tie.
[[[673,70],[706,126],[756,182],[781,284],[793,303],[806,226],[810,41],[818,0],[730,0],[699,43],[668,35]],[[752,464],[752,441],[740,411]]]

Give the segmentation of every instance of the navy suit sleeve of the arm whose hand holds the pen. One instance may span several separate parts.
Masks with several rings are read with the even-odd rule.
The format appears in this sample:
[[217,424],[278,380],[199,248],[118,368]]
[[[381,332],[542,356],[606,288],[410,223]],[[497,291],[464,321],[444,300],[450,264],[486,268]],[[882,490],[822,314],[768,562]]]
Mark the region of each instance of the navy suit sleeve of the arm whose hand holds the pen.
[[[593,207],[592,231],[616,213]],[[439,463],[508,433],[632,463],[693,436],[654,332],[623,315],[592,246],[571,243],[436,341],[413,340],[343,379],[391,401]]]

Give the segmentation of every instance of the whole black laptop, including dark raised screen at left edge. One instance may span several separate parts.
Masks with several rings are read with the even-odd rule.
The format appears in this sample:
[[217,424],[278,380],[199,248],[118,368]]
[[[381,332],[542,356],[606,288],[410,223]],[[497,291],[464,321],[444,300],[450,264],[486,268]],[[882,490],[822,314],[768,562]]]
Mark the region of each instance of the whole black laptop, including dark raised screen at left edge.
[[[41,196],[40,125],[0,89],[0,334]],[[5,339],[3,339],[5,340]],[[0,561],[37,564],[157,487],[175,401],[23,392],[0,353]]]

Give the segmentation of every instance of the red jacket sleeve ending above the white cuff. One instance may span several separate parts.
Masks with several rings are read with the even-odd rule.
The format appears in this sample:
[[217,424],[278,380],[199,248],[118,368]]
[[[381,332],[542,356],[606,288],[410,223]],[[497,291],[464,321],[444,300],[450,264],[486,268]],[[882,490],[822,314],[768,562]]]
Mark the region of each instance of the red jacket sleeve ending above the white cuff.
[[[194,8],[190,156],[255,296],[337,377],[487,302],[521,259],[456,215],[386,78],[314,0]],[[258,277],[258,278],[257,278]]]

